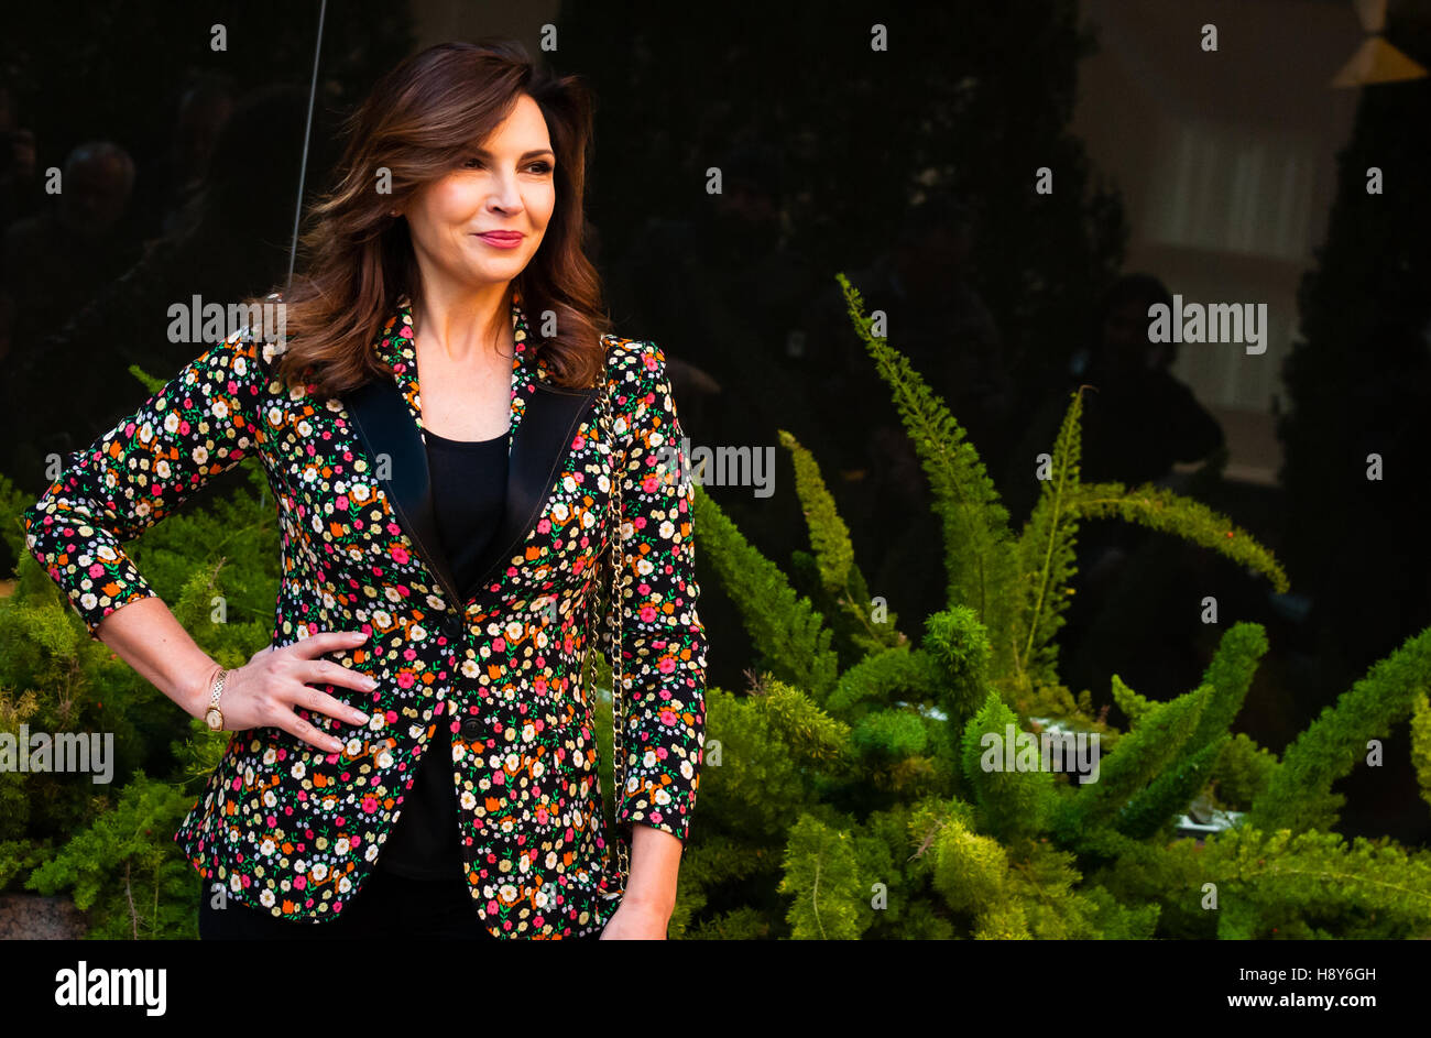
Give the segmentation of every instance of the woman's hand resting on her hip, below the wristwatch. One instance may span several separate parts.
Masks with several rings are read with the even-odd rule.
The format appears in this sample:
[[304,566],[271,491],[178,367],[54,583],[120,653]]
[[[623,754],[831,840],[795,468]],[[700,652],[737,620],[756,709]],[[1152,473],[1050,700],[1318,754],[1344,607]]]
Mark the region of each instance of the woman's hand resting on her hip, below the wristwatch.
[[348,706],[313,684],[332,684],[372,692],[378,683],[356,670],[321,660],[326,653],[353,649],[366,640],[363,631],[321,631],[279,649],[260,649],[242,667],[229,671],[219,707],[223,727],[242,732],[252,727],[276,727],[312,746],[335,753],[343,742],[316,729],[293,713],[303,707],[349,724],[366,724],[368,714]]

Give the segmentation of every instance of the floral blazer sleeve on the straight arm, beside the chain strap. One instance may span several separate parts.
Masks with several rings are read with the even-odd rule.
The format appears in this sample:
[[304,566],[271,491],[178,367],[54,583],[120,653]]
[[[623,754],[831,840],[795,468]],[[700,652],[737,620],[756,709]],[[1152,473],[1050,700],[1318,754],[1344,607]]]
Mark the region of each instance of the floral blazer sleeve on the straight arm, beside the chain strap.
[[630,435],[621,474],[621,659],[625,786],[617,826],[685,840],[705,742],[705,629],[697,613],[691,484],[665,356],[640,344],[618,409]]

